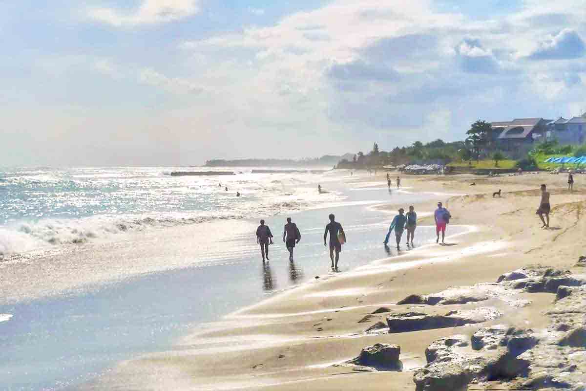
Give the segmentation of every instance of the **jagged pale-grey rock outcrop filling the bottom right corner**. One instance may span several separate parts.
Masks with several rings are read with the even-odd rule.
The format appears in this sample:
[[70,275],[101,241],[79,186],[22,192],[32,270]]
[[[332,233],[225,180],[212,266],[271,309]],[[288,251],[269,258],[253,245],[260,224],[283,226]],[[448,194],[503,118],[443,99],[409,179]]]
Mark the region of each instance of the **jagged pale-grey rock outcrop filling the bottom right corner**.
[[[438,339],[425,351],[427,365],[414,373],[416,390],[459,391],[468,389],[471,382],[499,381],[503,389],[511,390],[586,391],[586,276],[535,265],[503,274],[496,284],[483,286],[489,287],[489,298],[494,288],[492,292],[503,294],[505,298],[500,299],[509,303],[519,302],[516,296],[522,292],[555,294],[553,308],[545,312],[549,327],[533,331],[492,325],[478,329],[469,339],[462,335]],[[422,300],[415,303],[414,295],[408,301],[429,304],[427,297],[437,296],[419,296]],[[465,311],[473,310],[457,311],[458,315],[391,314],[387,323],[392,318],[398,327],[399,320],[410,319],[411,323],[402,325],[407,328],[426,317],[473,318],[463,316]],[[434,322],[444,323],[428,324]]]

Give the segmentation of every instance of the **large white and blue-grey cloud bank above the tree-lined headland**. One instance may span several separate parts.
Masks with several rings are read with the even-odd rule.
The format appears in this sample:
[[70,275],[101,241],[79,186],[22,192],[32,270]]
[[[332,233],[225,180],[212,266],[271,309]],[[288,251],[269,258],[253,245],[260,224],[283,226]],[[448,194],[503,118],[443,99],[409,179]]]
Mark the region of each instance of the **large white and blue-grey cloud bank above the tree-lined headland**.
[[[298,129],[325,124],[328,132],[344,134],[338,139],[358,143],[379,132],[401,140],[434,138],[433,132],[457,139],[478,118],[545,116],[543,108],[555,104],[557,111],[567,110],[563,93],[558,94],[567,82],[556,76],[563,67],[542,69],[523,60],[540,36],[560,30],[556,20],[578,29],[574,11],[561,6],[555,7],[560,16],[552,23],[534,25],[534,18],[550,8],[540,11],[532,3],[531,10],[478,21],[438,13],[427,0],[337,0],[272,26],[190,40],[181,47],[212,57],[239,51],[240,61],[218,55],[222,71],[202,75],[202,84],[216,83],[221,73],[231,75],[233,83],[213,88],[230,96],[223,102],[233,102],[239,118],[247,118],[250,126],[241,123],[243,132],[257,132],[255,121],[274,127],[291,121]],[[507,103],[527,94],[536,99]],[[239,97],[246,104],[238,104]],[[308,114],[308,122],[296,117],[299,112]],[[357,132],[363,137],[355,137]]]

